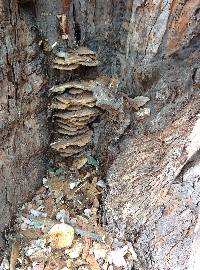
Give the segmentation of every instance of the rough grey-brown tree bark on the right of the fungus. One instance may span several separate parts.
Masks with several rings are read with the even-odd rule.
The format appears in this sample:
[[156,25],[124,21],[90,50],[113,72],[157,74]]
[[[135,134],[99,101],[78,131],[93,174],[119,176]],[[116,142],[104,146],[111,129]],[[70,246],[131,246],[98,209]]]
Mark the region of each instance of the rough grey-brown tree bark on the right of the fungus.
[[74,0],[73,9],[80,43],[101,58],[99,73],[150,98],[150,116],[133,113],[118,147],[100,140],[116,158],[105,222],[133,242],[135,269],[198,269],[199,1]]

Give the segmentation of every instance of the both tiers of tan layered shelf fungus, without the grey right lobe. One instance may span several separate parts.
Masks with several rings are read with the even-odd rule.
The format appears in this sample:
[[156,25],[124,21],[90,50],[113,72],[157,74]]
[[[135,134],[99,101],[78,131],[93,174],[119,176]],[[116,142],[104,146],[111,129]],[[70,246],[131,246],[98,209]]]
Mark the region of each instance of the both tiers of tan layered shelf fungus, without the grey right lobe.
[[[97,66],[96,53],[86,47],[68,52],[57,52],[53,68],[74,70],[80,66]],[[53,150],[61,157],[81,156],[92,141],[90,124],[100,114],[93,95],[94,81],[69,81],[50,89],[53,94],[51,108],[58,134]]]

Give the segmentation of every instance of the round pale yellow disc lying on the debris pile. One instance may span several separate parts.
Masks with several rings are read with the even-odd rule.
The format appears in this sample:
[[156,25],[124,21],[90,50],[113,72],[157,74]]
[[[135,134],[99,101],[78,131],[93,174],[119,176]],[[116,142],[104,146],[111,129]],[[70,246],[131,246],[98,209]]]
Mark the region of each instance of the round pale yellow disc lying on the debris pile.
[[56,249],[70,247],[74,239],[74,229],[67,224],[56,224],[48,232],[51,246]]

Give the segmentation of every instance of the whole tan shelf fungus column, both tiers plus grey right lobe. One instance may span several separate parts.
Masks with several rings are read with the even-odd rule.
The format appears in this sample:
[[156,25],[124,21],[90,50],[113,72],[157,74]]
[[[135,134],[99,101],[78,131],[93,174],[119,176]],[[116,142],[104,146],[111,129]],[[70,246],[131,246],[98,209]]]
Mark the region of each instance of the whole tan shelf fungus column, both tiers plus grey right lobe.
[[[57,53],[53,67],[72,70],[85,66],[96,66],[96,54],[80,47],[67,53]],[[58,139],[51,144],[62,157],[80,157],[92,144],[91,124],[103,110],[116,112],[122,100],[116,100],[118,80],[100,76],[95,80],[67,81],[53,86],[51,108]]]

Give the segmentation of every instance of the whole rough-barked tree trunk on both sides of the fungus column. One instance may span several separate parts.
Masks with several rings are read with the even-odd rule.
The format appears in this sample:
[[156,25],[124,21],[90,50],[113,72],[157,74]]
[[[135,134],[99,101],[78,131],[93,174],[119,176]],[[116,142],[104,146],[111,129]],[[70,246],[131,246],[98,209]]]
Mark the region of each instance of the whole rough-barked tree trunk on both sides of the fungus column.
[[[146,109],[132,111],[130,126],[117,139],[104,129],[96,146],[108,183],[105,223],[117,237],[132,241],[138,255],[134,269],[198,269],[199,1],[38,0],[32,17],[27,8],[34,4],[22,5],[26,21],[16,3],[4,2],[0,199],[6,222],[19,196],[37,186],[48,145],[45,99],[38,96],[42,53],[34,37],[47,38],[49,46],[84,45],[98,54],[98,74],[118,77],[119,92],[150,99]],[[63,13],[66,43],[55,19]],[[30,32],[34,18],[39,34]],[[48,67],[48,55],[46,60]],[[47,71],[49,86],[67,78]]]

